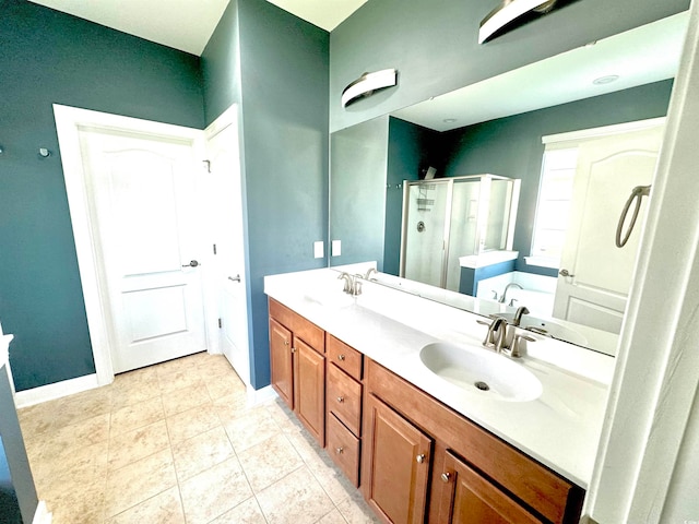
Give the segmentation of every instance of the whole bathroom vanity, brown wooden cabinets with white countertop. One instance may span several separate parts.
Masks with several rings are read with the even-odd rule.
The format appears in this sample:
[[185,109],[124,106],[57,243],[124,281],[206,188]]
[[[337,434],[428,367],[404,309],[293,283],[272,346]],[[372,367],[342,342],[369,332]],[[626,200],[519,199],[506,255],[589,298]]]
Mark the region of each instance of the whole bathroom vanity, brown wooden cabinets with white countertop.
[[[578,522],[613,358],[544,336],[521,359],[495,355],[483,318],[366,281],[353,297],[339,274],[265,278],[272,384],[376,514]],[[449,377],[428,348],[483,358],[493,388]]]

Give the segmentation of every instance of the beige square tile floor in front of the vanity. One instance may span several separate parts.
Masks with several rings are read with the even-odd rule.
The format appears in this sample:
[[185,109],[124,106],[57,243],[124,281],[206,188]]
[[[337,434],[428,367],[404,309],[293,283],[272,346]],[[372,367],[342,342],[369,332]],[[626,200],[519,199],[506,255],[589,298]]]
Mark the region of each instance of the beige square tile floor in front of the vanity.
[[55,524],[378,522],[279,400],[198,354],[20,410]]

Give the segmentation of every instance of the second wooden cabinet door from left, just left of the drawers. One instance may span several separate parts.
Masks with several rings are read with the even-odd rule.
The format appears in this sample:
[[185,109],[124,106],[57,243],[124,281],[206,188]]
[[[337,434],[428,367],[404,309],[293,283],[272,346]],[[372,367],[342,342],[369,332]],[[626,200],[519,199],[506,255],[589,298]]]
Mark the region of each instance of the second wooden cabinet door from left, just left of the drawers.
[[294,410],[321,446],[325,445],[325,357],[294,337]]

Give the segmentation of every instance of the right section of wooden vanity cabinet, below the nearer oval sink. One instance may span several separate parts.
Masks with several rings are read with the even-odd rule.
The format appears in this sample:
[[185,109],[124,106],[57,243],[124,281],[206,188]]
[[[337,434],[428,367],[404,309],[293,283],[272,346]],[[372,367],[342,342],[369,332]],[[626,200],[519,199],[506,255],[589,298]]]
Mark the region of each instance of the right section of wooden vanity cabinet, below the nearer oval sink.
[[[384,471],[379,477],[382,483],[391,479],[396,486],[412,484],[416,478],[395,456],[390,460],[380,456],[391,453],[392,448],[386,444],[388,439],[395,449],[407,446],[399,444],[399,434],[404,433],[398,429],[398,417],[434,441],[431,460],[426,461],[431,463],[426,509],[429,523],[578,522],[584,496],[581,488],[370,359],[365,359],[365,365],[367,405],[362,475],[365,498],[372,507],[374,492],[382,489],[372,477],[377,471]],[[395,415],[391,422],[382,417],[384,410],[377,415],[377,402]],[[377,425],[376,419],[386,419],[386,424]],[[399,475],[402,480],[393,479]],[[395,503],[402,504],[400,511],[392,509],[400,519],[389,515],[387,522],[415,522],[405,517],[411,514],[413,499],[395,497]],[[382,516],[386,519],[386,514]]]

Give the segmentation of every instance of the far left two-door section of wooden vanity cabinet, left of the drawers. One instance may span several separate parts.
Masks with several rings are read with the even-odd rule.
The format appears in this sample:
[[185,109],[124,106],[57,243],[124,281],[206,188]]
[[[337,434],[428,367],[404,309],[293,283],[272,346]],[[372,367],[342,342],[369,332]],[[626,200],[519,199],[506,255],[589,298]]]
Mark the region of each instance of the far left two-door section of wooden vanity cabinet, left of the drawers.
[[325,333],[270,299],[272,388],[325,445]]

